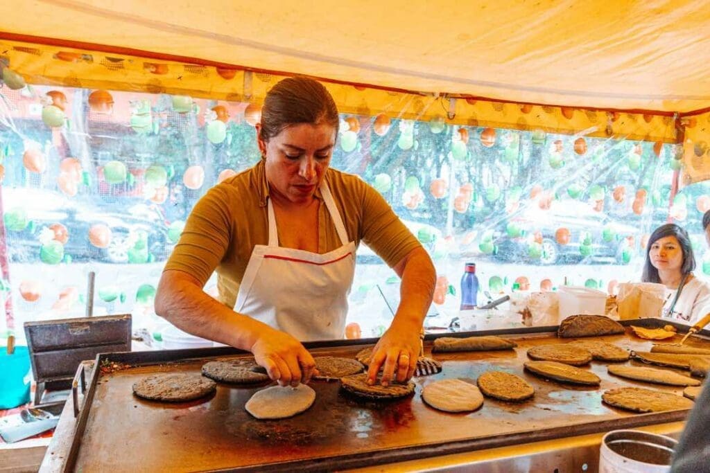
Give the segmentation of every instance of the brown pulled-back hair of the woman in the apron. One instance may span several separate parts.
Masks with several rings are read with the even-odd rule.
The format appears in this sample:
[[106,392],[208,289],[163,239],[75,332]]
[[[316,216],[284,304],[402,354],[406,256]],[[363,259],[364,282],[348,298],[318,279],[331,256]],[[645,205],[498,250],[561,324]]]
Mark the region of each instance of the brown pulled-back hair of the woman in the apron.
[[266,93],[261,108],[259,138],[269,138],[296,123],[333,126],[336,135],[340,124],[338,108],[320,82],[308,77],[288,77]]

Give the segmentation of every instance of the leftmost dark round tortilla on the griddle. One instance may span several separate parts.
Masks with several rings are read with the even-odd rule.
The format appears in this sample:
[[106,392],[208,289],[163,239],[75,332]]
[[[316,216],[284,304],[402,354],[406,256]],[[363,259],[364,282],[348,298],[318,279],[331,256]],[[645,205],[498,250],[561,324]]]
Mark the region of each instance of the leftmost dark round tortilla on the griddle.
[[143,399],[185,402],[212,394],[217,384],[197,373],[153,374],[133,383],[133,393]]

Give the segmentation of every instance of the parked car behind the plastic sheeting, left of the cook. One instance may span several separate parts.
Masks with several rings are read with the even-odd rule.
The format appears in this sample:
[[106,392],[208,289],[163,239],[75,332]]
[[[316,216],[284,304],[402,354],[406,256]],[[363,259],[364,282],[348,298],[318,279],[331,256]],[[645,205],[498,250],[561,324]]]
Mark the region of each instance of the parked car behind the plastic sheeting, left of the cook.
[[[128,204],[130,202],[130,204]],[[60,223],[67,228],[64,244],[65,260],[96,260],[109,263],[165,260],[172,251],[167,222],[158,206],[135,199],[108,204],[90,196],[67,198],[58,191],[31,188],[2,189],[2,206],[6,216],[6,241],[12,262],[40,261],[42,239],[50,226]],[[9,228],[8,216],[20,216],[19,223]],[[107,247],[89,242],[89,229],[104,224],[111,230]],[[23,227],[23,228],[22,228]]]

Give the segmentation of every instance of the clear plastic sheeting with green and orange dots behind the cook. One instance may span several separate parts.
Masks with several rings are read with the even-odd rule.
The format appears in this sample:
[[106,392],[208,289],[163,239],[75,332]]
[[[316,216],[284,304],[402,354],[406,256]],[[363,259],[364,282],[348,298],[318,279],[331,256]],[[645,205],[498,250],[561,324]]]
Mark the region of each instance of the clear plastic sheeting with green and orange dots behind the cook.
[[[197,199],[258,160],[258,113],[185,95],[0,89],[10,325],[81,315],[94,270],[94,313],[131,311],[158,330],[165,260]],[[380,191],[435,262],[431,315],[457,313],[464,262],[485,301],[564,284],[613,292],[638,280],[648,235],[669,217],[703,252],[710,196],[704,184],[672,195],[679,145],[351,113],[340,130],[332,166]],[[357,262],[350,333],[379,335],[398,277],[365,246]]]

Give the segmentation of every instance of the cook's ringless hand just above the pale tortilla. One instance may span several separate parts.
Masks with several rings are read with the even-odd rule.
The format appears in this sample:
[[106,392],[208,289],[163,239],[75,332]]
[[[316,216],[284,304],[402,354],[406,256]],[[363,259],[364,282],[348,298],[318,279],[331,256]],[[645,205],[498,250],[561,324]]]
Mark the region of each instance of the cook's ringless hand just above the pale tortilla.
[[298,386],[310,381],[315,360],[301,343],[288,333],[264,328],[251,345],[256,362],[266,368],[268,376],[280,386]]

